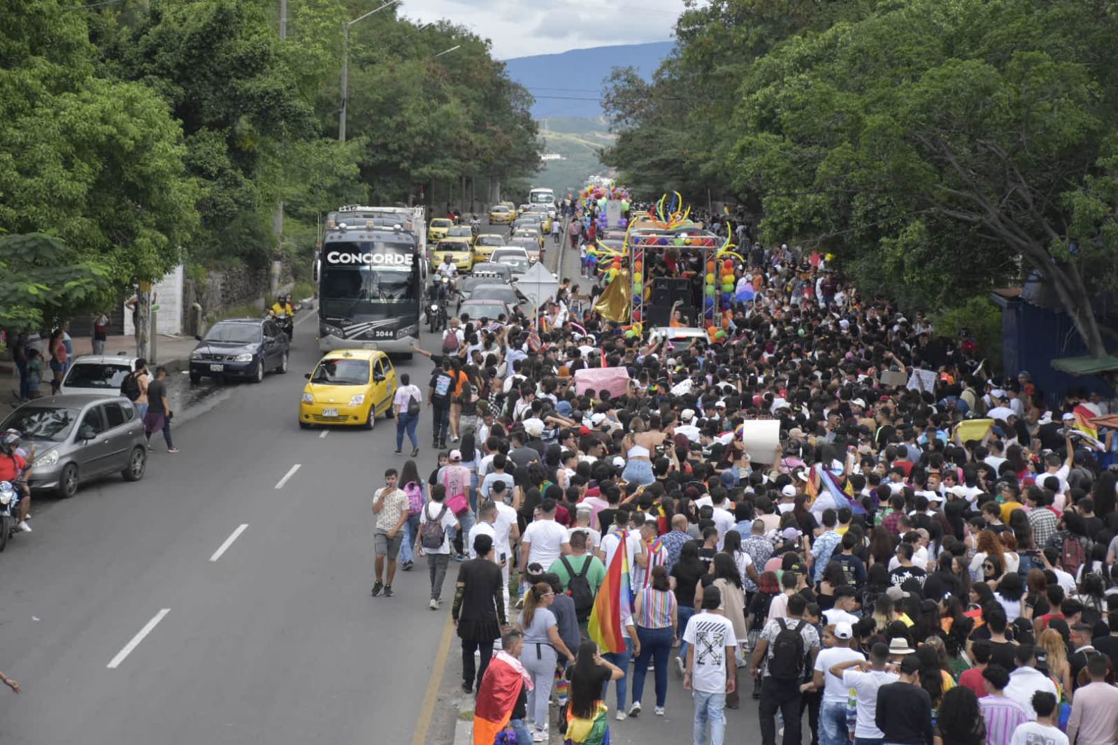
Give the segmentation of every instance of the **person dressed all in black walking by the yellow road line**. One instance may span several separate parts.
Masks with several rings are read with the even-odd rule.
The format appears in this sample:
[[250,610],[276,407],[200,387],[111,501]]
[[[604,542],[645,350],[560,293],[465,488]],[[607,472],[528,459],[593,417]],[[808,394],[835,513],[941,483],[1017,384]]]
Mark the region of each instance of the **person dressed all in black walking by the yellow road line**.
[[[458,567],[458,582],[454,591],[451,617],[462,639],[462,690],[474,691],[474,681],[481,688],[485,668],[493,658],[493,642],[501,638],[508,625],[504,617],[501,567],[493,563],[493,538],[483,534],[474,537],[477,558]],[[474,651],[481,660],[474,669]]]

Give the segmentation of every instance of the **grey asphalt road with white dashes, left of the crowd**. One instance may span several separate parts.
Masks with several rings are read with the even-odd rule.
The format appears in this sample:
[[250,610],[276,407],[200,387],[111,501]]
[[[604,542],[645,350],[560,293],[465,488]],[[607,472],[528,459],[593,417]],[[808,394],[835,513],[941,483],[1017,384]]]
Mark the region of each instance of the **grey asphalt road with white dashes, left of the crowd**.
[[[413,742],[446,618],[426,572],[369,596],[370,494],[402,461],[391,421],[297,429],[314,331],[297,327],[290,374],[178,427],[181,451],[160,446],[140,484],[37,503],[0,555],[0,669],[23,686],[0,696],[0,743]],[[399,370],[426,381],[430,362]]]

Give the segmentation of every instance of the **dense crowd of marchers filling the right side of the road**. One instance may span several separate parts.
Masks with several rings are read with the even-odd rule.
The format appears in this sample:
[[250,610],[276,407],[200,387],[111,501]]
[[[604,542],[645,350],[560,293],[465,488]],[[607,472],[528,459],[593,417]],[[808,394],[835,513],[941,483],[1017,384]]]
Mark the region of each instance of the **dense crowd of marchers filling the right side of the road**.
[[[559,727],[600,745],[647,710],[648,672],[654,716],[688,707],[697,745],[723,743],[750,696],[764,745],[1115,743],[1118,475],[1072,411],[1118,408],[989,378],[973,340],[797,249],[737,256],[757,292],[718,340],[650,342],[565,283],[544,331],[458,319],[398,400],[417,412],[421,393],[453,449],[391,474],[390,515],[375,498],[372,592],[398,552],[421,555],[438,610],[462,562],[475,743]],[[627,371],[624,393],[574,384],[601,366]],[[881,382],[913,370],[935,382]],[[757,420],[779,422],[775,451],[746,450]],[[603,593],[619,621],[596,618]],[[669,699],[673,669],[692,700]]]

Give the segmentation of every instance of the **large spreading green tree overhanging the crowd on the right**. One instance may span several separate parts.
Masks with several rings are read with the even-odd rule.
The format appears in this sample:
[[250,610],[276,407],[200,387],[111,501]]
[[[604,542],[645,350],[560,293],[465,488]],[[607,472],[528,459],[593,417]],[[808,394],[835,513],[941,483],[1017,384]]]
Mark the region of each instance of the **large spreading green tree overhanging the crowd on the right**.
[[[728,12],[745,38],[719,40]],[[919,307],[1036,277],[1105,353],[1091,303],[1118,289],[1110,3],[737,0],[680,22],[657,79],[698,65],[700,90],[733,88],[694,165],[758,208],[762,239],[832,251],[863,286]],[[622,142],[657,125],[645,112],[620,122]],[[642,165],[612,155],[626,178]]]

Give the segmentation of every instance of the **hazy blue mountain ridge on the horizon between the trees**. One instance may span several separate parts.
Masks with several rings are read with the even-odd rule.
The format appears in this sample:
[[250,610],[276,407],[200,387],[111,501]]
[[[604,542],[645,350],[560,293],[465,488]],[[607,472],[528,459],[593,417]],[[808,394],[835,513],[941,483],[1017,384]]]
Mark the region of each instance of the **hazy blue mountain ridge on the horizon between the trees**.
[[532,116],[601,115],[601,83],[615,67],[635,67],[650,78],[674,41],[650,41],[612,47],[571,49],[558,55],[537,55],[505,60],[509,77],[536,97]]

